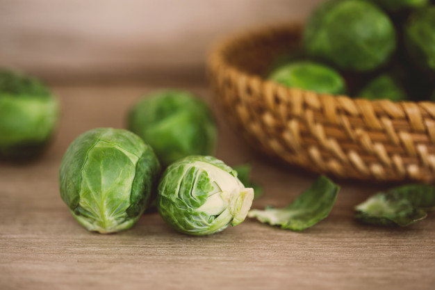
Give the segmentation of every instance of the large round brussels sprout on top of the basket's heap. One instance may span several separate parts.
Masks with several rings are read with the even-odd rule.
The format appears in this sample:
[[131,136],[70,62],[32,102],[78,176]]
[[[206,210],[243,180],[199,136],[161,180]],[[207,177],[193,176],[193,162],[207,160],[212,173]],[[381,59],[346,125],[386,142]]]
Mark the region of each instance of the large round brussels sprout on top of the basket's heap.
[[388,61],[396,47],[393,23],[375,4],[334,0],[320,5],[304,29],[309,55],[341,70],[366,72]]

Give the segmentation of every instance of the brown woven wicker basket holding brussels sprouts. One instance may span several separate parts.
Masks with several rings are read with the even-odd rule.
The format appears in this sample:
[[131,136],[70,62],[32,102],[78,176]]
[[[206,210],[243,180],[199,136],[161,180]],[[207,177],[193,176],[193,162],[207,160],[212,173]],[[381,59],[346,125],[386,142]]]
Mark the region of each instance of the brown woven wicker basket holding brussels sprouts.
[[292,24],[236,35],[208,58],[211,86],[248,142],[315,172],[354,179],[435,180],[435,104],[368,101],[286,88],[262,79],[298,47]]

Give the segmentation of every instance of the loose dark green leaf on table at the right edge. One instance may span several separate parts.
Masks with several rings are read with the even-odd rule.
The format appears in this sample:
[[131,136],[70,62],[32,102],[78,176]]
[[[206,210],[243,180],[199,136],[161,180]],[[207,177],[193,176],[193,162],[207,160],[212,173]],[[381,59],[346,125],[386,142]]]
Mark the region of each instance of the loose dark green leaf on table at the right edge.
[[377,193],[355,207],[357,220],[372,225],[406,227],[426,218],[435,209],[435,188],[413,184]]

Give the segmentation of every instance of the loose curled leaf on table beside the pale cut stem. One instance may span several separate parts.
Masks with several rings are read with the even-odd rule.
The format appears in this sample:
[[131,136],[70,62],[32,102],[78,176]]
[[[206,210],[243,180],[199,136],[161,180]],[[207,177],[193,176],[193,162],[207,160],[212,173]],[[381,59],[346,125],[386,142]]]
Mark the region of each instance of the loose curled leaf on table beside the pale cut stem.
[[321,176],[287,207],[266,208],[263,211],[252,209],[248,216],[257,218],[261,223],[279,225],[281,229],[302,231],[329,215],[339,190],[339,186]]

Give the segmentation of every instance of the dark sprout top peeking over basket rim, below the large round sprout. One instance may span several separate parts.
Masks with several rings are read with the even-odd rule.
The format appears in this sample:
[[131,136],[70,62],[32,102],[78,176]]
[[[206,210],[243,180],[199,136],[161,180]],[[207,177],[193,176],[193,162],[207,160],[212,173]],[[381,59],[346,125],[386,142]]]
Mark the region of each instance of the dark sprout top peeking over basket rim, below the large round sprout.
[[407,99],[407,93],[390,74],[381,74],[372,79],[358,94],[366,99],[389,99],[393,102]]

